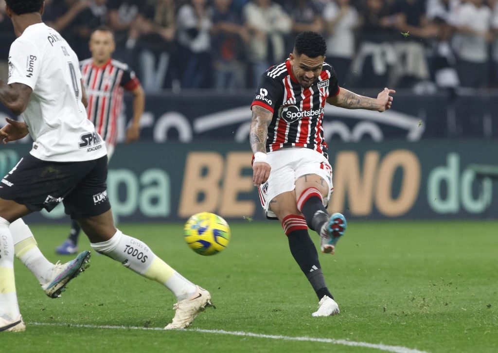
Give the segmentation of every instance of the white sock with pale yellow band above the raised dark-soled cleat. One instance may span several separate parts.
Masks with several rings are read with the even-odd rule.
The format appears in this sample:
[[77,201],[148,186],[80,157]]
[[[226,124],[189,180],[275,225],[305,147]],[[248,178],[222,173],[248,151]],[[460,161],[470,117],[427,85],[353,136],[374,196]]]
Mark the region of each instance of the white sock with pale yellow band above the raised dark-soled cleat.
[[41,253],[29,227],[19,218],[10,224],[9,231],[15,256],[35,275],[40,284],[45,284],[52,276],[54,265]]

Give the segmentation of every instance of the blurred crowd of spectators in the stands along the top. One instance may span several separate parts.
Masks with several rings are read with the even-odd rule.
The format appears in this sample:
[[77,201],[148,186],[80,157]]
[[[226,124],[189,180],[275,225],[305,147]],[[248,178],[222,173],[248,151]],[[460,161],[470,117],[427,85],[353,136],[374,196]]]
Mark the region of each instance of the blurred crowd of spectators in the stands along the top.
[[[93,28],[144,89],[253,88],[296,33],[327,41],[345,87],[498,87],[498,0],[45,0],[44,21],[80,59]],[[0,0],[0,72],[14,39]]]

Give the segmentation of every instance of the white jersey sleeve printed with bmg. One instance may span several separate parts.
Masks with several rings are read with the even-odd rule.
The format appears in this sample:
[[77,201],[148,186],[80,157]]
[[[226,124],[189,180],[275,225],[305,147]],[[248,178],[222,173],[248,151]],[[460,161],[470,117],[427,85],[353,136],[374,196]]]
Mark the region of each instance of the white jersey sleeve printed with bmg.
[[18,38],[8,54],[8,84],[22,83],[34,91],[40,75],[41,56],[29,40]]

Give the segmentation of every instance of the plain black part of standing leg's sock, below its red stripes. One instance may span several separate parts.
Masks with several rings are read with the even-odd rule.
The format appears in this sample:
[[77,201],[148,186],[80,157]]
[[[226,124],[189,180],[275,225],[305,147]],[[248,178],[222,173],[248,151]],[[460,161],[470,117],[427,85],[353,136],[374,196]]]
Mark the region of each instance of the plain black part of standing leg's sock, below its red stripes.
[[305,274],[311,286],[315,290],[318,300],[325,295],[334,299],[327,286],[323,276],[322,267],[318,260],[318,252],[315,244],[311,240],[308,230],[295,230],[287,235],[289,247],[292,256]]

